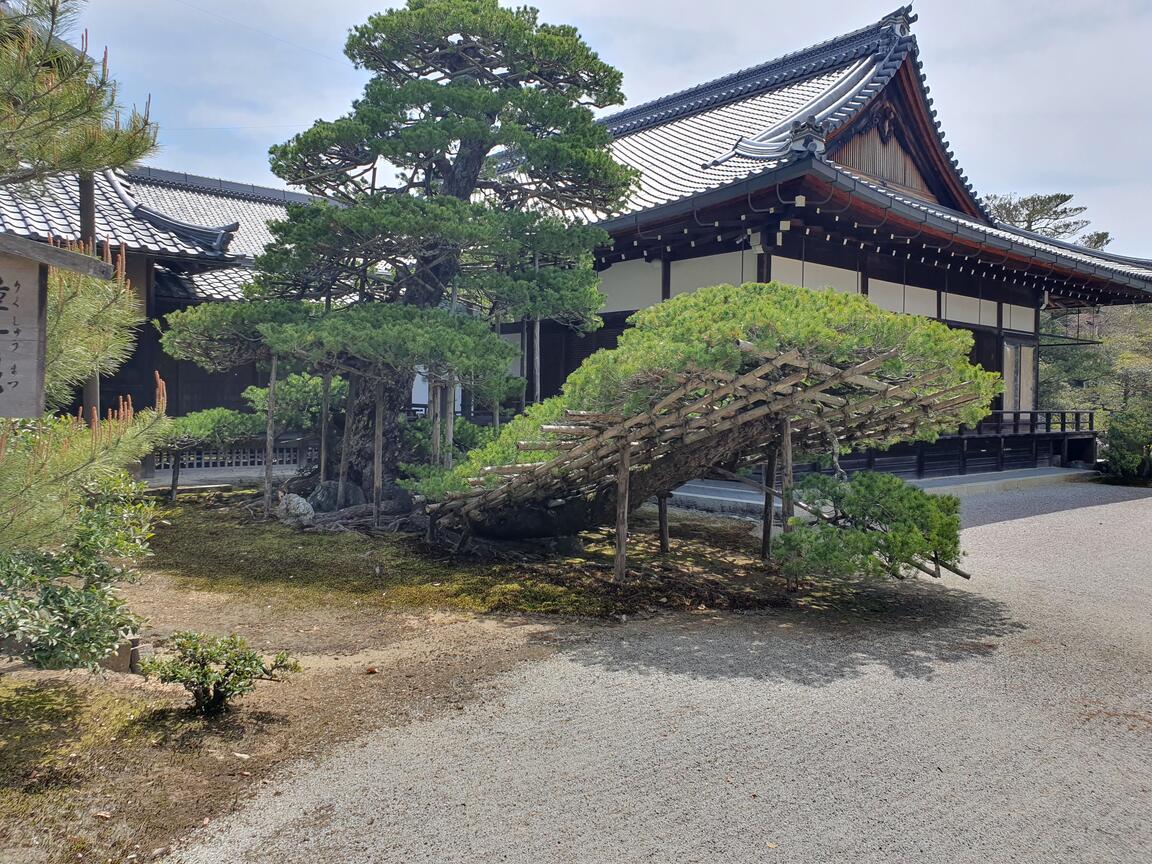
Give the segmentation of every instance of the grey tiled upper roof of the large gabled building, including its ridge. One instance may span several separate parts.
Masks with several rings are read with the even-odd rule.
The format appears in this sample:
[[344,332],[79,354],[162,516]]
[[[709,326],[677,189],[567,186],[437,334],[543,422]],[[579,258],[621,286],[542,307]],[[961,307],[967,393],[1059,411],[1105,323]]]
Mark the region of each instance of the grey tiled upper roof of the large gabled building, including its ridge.
[[[794,122],[814,118],[829,134],[848,123],[911,58],[916,16],[902,7],[874,24],[778,60],[605,118],[613,154],[639,169],[623,213],[638,213],[776,168]],[[926,85],[924,86],[926,90]],[[931,99],[925,111],[934,119]],[[937,123],[940,147],[982,209]]]

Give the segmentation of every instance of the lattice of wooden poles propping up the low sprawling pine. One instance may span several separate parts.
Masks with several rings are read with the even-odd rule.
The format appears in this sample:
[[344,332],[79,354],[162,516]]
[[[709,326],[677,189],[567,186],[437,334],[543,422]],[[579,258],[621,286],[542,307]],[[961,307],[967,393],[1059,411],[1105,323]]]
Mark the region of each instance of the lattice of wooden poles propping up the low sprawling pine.
[[[541,427],[545,440],[518,444],[525,454],[559,455],[485,468],[470,482],[473,488],[430,505],[432,523],[467,535],[485,523],[515,520],[525,508],[559,511],[582,503],[585,513],[594,501],[593,523],[616,525],[619,578],[626,566],[628,511],[652,495],[661,499],[713,465],[757,464],[775,453],[785,465],[787,501],[794,449],[829,449],[833,441],[858,447],[909,437],[925,423],[947,426],[953,418],[958,425],[958,414],[979,399],[973,382],[934,387],[947,369],[895,380],[876,377],[899,354],[895,348],[838,367],[798,351],[761,354],[745,342],[740,347],[761,361],[752,371],[690,373],[631,417],[568,411],[563,423]],[[771,508],[766,513],[771,517]]]

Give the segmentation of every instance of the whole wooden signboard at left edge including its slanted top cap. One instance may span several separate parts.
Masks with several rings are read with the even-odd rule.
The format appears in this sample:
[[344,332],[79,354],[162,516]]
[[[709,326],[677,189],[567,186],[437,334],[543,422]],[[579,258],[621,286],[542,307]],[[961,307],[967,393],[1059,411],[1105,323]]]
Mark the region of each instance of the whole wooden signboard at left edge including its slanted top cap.
[[48,265],[112,279],[111,264],[0,234],[0,417],[44,414]]

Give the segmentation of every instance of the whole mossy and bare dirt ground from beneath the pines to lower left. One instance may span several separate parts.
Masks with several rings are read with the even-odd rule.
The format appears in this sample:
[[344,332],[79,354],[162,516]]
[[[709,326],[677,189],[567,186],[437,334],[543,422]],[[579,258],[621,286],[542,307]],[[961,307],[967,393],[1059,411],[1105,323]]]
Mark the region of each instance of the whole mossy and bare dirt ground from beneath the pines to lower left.
[[303,670],[207,721],[187,713],[177,685],[0,666],[5,864],[161,857],[278,766],[462,710],[493,677],[606,622],[780,601],[817,609],[841,591],[781,599],[751,523],[689,511],[673,511],[667,558],[654,508],[637,514],[624,586],[611,583],[611,531],[586,535],[563,558],[476,561],[412,538],[253,522],[212,499],[164,516],[154,556],[124,590],[143,641],[235,632],[267,655],[288,651]]

